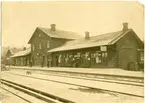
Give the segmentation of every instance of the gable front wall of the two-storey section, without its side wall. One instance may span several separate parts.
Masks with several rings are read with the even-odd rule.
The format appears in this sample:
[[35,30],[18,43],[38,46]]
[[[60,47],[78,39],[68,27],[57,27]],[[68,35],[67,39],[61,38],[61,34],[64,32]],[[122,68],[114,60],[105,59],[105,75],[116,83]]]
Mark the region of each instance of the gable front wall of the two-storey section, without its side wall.
[[[47,48],[48,41],[50,41],[49,36],[47,36],[39,29],[35,30],[31,41],[32,65],[35,66],[47,65],[47,51],[50,49]],[[40,43],[41,43],[41,49],[39,48]],[[35,45],[34,50],[32,45]]]

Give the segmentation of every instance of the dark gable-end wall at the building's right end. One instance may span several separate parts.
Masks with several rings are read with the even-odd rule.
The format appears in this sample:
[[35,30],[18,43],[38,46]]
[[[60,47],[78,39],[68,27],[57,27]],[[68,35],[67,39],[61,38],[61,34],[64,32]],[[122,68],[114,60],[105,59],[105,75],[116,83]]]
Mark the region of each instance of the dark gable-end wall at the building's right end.
[[129,32],[117,43],[118,66],[128,69],[129,62],[137,62],[137,49],[139,48],[133,32]]

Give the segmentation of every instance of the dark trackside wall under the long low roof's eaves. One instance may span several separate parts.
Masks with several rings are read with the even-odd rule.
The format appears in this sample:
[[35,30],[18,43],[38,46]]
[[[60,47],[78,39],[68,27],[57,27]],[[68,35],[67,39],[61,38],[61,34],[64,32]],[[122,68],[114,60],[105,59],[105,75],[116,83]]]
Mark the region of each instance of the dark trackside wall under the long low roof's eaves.
[[[115,48],[114,48],[115,49]],[[115,49],[116,50],[116,49]],[[108,53],[108,57],[105,58],[105,62],[103,63],[96,63],[96,58],[92,58],[92,54],[96,53],[96,51],[100,51],[100,47],[91,47],[91,48],[85,48],[85,49],[79,49],[79,50],[71,50],[71,51],[63,51],[63,52],[55,52],[53,54],[53,66],[61,66],[61,67],[76,67],[75,63],[77,62],[77,67],[83,67],[83,68],[105,68],[105,67],[116,67],[116,62],[114,62],[113,58],[116,57],[116,51],[112,50],[112,48],[108,49],[107,52],[101,52],[101,53]],[[72,59],[68,60],[68,62],[61,62],[60,64],[57,64],[57,60],[59,55],[75,55],[77,53],[84,54],[85,52],[89,52],[89,55],[87,59],[82,59],[81,57],[79,59]]]

